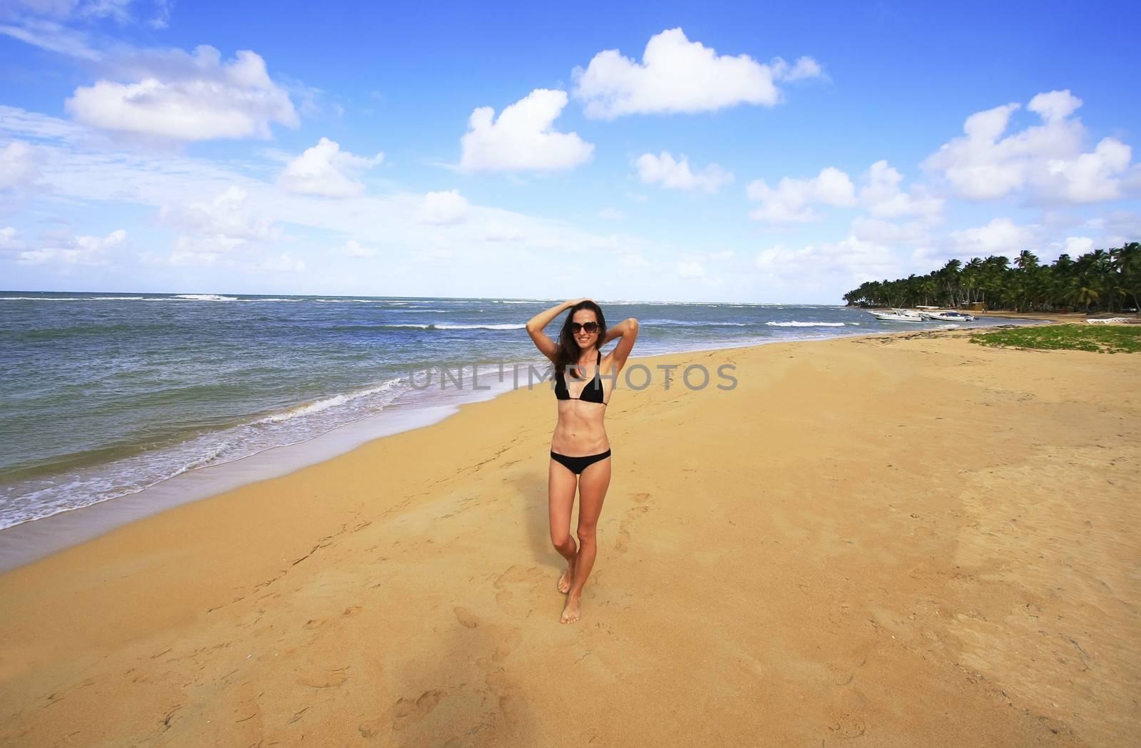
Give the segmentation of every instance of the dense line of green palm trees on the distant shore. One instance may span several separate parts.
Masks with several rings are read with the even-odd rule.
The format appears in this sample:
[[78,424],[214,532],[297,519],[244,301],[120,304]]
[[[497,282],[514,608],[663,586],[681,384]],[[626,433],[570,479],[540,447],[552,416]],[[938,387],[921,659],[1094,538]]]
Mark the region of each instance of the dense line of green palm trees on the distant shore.
[[1003,255],[950,260],[938,270],[896,280],[868,280],[844,294],[848,306],[969,307],[1027,311],[1119,311],[1139,309],[1141,243],[1115,250],[1093,250],[1076,260],[1062,254],[1053,265],[1039,265],[1022,250],[1011,261]]

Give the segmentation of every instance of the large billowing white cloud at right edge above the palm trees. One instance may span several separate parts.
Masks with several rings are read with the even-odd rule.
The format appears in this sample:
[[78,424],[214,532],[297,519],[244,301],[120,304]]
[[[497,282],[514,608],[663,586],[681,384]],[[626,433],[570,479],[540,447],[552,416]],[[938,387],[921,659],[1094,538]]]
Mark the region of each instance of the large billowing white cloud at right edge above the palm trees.
[[[1047,202],[1092,203],[1123,196],[1132,149],[1103,138],[1092,153],[1082,153],[1085,128],[1070,115],[1082,99],[1066,91],[1038,93],[1027,105],[1042,124],[1002,137],[1018,104],[977,112],[955,138],[923,162],[942,176],[962,197],[996,200],[1027,190]],[[1135,170],[1134,170],[1135,171]]]

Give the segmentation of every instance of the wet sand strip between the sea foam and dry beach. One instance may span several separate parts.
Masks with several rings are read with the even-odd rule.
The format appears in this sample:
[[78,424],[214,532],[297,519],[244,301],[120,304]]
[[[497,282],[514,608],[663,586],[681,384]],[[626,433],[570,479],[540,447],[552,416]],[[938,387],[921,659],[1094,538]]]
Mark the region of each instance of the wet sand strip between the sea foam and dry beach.
[[[1034,317],[1030,317],[1034,319]],[[655,353],[633,363],[663,357],[703,355],[718,351],[747,350],[772,344],[798,344],[851,338],[876,338],[901,333],[941,332],[941,328],[899,330],[879,333],[852,333],[832,338],[806,338],[771,341],[726,348],[702,348],[669,353]],[[629,373],[629,367],[628,372]],[[492,381],[492,380],[488,380]],[[500,383],[503,384],[503,383]],[[104,499],[94,504],[30,520],[0,529],[0,575],[34,563],[54,553],[86,543],[131,522],[145,520],[170,509],[203,501],[264,480],[289,475],[298,470],[333,460],[358,449],[370,441],[396,433],[430,428],[463,407],[508,395],[511,387],[492,385],[487,396],[459,399],[444,405],[382,412],[350,422],[305,441],[270,447],[262,452],[217,465],[189,470],[133,494]],[[537,387],[543,387],[539,384]],[[548,385],[549,387],[549,385]],[[470,396],[470,392],[469,392]],[[377,425],[372,425],[377,424]]]

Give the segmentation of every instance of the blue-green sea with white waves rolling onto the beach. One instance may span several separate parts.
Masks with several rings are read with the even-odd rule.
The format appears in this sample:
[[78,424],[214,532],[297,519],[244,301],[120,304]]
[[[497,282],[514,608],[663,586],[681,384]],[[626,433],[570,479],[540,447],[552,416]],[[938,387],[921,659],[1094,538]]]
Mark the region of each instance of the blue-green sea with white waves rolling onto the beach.
[[[0,529],[363,418],[476,399],[470,382],[423,387],[424,372],[539,367],[524,324],[553,304],[0,292]],[[899,330],[843,307],[601,306],[612,326],[639,319],[636,357]]]

